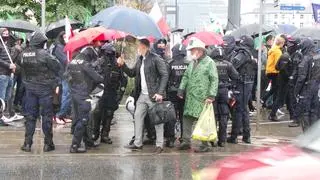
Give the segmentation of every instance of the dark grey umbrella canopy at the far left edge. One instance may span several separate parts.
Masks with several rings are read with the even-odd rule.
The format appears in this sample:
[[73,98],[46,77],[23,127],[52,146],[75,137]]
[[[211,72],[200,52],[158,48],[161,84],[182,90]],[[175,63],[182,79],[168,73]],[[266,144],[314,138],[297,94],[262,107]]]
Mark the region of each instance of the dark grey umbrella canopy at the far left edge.
[[17,32],[34,32],[34,31],[40,31],[38,26],[33,25],[29,23],[28,21],[24,20],[7,20],[0,22],[1,28],[7,28],[11,31],[17,31]]

